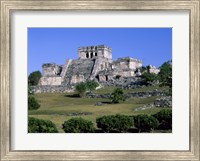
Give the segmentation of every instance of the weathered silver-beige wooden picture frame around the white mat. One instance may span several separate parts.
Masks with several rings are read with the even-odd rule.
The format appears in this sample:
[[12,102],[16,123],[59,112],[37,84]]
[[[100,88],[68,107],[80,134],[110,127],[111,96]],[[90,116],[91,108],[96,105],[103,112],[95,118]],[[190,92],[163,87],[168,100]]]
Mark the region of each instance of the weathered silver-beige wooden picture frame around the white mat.
[[[199,0],[192,1],[29,1],[1,0],[1,55],[0,55],[0,106],[1,106],[1,160],[200,160],[199,123]],[[176,151],[134,151],[134,150],[12,150],[11,149],[11,17],[16,10],[59,11],[179,11],[190,13],[190,72],[189,72],[189,150]]]

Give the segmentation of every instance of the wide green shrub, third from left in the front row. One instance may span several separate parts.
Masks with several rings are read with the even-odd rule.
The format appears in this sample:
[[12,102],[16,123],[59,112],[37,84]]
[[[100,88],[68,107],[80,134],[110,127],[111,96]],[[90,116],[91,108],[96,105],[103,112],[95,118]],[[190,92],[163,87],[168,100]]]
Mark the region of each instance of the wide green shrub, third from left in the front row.
[[127,132],[133,126],[133,120],[125,115],[108,115],[96,119],[97,127],[103,132],[117,130],[118,132]]

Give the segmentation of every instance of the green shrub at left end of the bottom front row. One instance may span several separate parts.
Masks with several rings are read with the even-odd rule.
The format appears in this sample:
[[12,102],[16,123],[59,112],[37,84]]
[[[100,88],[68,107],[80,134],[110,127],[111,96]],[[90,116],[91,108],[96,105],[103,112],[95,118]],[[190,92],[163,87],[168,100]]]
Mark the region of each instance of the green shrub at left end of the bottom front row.
[[57,133],[56,125],[49,120],[28,118],[28,132],[29,133]]

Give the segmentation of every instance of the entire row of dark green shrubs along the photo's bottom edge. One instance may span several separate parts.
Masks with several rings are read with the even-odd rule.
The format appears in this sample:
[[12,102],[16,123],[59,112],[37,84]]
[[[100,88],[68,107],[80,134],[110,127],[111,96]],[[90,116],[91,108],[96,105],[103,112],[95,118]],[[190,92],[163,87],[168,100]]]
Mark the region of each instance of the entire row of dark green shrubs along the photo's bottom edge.
[[[154,115],[140,114],[136,116],[126,115],[107,115],[96,119],[99,129],[105,133],[110,132],[128,132],[133,126],[138,132],[153,132],[158,130],[172,129],[172,110],[162,109]],[[81,117],[71,118],[62,125],[66,133],[93,133],[95,126],[92,121]],[[28,119],[28,132],[30,133],[56,133],[56,126],[51,121],[40,120],[30,117]]]

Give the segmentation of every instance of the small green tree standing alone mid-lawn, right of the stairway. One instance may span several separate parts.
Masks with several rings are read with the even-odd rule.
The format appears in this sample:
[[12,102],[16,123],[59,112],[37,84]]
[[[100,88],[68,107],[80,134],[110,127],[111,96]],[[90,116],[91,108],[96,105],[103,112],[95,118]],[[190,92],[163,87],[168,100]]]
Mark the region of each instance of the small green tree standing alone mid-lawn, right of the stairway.
[[112,103],[119,103],[119,101],[125,101],[123,90],[121,88],[116,88],[111,94],[110,99]]

